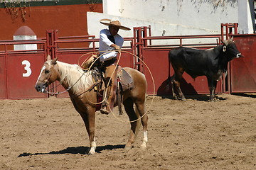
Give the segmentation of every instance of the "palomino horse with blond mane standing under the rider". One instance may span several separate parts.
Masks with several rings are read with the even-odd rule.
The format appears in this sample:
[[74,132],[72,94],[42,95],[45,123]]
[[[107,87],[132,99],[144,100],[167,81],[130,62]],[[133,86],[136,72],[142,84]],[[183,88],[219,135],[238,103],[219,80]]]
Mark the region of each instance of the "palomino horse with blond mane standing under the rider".
[[[94,82],[92,81],[91,71],[85,72],[77,64],[68,64],[57,61],[58,58],[47,61],[43,64],[41,73],[36,82],[36,90],[46,93],[46,87],[54,81],[59,81],[60,84],[68,91],[70,99],[78,113],[80,113],[82,120],[85,123],[85,128],[89,135],[90,150],[88,154],[95,154],[95,111],[97,103],[97,92],[92,88]],[[139,126],[143,125],[143,142],[141,147],[146,148],[147,142],[147,120],[145,113],[145,99],[146,99],[146,79],[144,74],[129,67],[125,69],[134,80],[134,89],[124,91],[123,105],[129,116],[131,130],[129,140],[125,149],[132,148]],[[135,104],[135,111],[134,111]],[[114,106],[117,106],[115,103]],[[140,118],[140,120],[139,120]]]

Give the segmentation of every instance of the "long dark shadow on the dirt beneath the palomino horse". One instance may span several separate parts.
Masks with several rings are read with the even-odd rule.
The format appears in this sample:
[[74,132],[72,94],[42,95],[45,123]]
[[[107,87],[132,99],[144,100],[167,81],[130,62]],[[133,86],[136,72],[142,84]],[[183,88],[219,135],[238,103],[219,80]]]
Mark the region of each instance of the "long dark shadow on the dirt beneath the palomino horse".
[[[125,145],[105,145],[97,147],[95,152],[100,153],[103,150],[112,150],[112,149],[123,149]],[[18,157],[28,157],[33,155],[42,155],[42,154],[87,154],[90,147],[67,147],[66,149],[59,151],[51,151],[46,153],[27,153],[19,154]]]

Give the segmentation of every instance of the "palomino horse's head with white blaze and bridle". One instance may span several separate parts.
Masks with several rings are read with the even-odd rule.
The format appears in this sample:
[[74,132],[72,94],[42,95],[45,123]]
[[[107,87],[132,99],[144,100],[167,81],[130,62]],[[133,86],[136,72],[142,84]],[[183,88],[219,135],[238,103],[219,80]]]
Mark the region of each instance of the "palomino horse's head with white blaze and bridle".
[[43,64],[41,73],[39,74],[38,80],[36,81],[36,91],[45,93],[46,87],[53,83],[58,78],[58,72],[55,67],[58,58],[53,60],[48,55],[47,61]]

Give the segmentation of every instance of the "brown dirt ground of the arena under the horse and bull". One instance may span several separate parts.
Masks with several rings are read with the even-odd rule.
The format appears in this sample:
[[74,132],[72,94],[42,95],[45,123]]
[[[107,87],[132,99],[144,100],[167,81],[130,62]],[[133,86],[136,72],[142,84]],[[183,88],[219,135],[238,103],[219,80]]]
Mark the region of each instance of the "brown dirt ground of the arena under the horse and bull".
[[[124,149],[127,115],[97,112],[97,153],[69,98],[0,101],[0,169],[256,169],[256,94],[152,96],[149,142]],[[117,114],[117,110],[114,111]]]

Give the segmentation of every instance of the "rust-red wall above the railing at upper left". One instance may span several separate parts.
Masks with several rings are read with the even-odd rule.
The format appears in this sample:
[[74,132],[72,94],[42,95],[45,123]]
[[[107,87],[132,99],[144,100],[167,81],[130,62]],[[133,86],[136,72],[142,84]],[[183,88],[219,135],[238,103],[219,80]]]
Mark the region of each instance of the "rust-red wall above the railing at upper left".
[[58,30],[60,36],[88,35],[87,11],[102,12],[102,0],[31,1],[16,7],[1,3],[0,40],[13,40],[21,26],[31,28],[37,38],[45,38],[46,30]]

